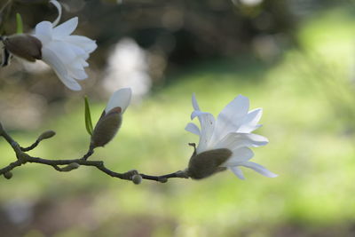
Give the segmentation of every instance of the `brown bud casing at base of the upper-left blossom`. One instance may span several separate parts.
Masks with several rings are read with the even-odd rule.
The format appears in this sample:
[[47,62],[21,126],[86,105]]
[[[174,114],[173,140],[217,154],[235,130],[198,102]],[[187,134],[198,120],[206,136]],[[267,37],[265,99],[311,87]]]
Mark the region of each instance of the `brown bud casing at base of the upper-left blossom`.
[[42,59],[42,43],[39,39],[29,35],[13,35],[3,38],[7,51],[28,61]]

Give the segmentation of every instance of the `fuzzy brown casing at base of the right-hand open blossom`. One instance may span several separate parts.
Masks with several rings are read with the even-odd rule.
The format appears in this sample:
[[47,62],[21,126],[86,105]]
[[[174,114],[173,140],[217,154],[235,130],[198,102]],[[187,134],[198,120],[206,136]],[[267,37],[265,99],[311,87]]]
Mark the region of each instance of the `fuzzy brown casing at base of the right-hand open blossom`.
[[193,154],[187,168],[187,175],[193,179],[207,178],[220,171],[220,165],[231,157],[229,149],[215,149]]

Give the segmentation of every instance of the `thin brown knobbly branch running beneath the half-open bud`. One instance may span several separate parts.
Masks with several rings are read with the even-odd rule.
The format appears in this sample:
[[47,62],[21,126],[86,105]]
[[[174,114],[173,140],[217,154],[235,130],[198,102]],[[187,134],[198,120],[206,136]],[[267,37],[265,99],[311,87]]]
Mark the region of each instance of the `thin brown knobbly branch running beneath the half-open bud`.
[[15,152],[16,157],[18,159],[16,162],[12,162],[9,165],[5,166],[3,169],[0,169],[0,175],[4,175],[5,178],[6,178],[5,176],[6,174],[8,174],[9,172],[11,172],[17,167],[20,167],[22,164],[26,164],[26,163],[40,163],[44,165],[49,165],[54,170],[58,170],[60,172],[68,172],[71,170],[76,170],[80,166],[93,166],[110,177],[130,180],[133,181],[135,184],[140,183],[140,181],[137,182],[135,179],[135,177],[137,176],[143,179],[154,180],[161,183],[166,183],[169,178],[188,178],[185,171],[181,171],[181,170],[178,170],[177,172],[170,173],[167,175],[162,175],[162,176],[146,175],[143,173],[139,173],[138,170],[129,170],[124,173],[114,172],[113,170],[109,170],[108,168],[106,168],[104,162],[102,161],[87,160],[91,156],[91,154],[94,153],[92,148],[89,148],[89,151],[86,154],[84,154],[82,158],[79,159],[49,160],[40,157],[33,157],[27,154],[26,151],[35,148],[42,140],[41,139],[42,135],[40,136],[40,138],[37,138],[36,142],[33,145],[23,148],[4,130],[4,128],[0,123],[0,136],[3,137],[7,141],[7,143],[9,143],[12,146],[12,149]]

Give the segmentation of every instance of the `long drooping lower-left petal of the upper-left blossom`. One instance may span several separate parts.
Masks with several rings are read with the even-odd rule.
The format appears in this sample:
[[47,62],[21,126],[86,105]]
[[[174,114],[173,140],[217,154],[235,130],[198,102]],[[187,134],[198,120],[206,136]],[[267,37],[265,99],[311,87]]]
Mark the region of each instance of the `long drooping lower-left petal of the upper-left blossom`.
[[80,91],[82,89],[80,84],[76,83],[75,79],[68,75],[66,66],[62,63],[56,53],[51,51],[51,49],[43,47],[42,59],[45,63],[53,68],[60,81],[64,83],[69,89],[73,91]]

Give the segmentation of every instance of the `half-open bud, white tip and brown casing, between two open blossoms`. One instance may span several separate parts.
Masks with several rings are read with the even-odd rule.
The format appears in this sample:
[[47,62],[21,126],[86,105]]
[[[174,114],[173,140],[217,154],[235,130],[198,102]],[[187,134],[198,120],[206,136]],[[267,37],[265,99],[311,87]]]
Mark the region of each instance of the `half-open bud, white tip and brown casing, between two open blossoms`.
[[131,97],[130,88],[122,88],[114,92],[92,132],[91,148],[105,146],[114,138],[121,127],[122,115],[130,105]]

